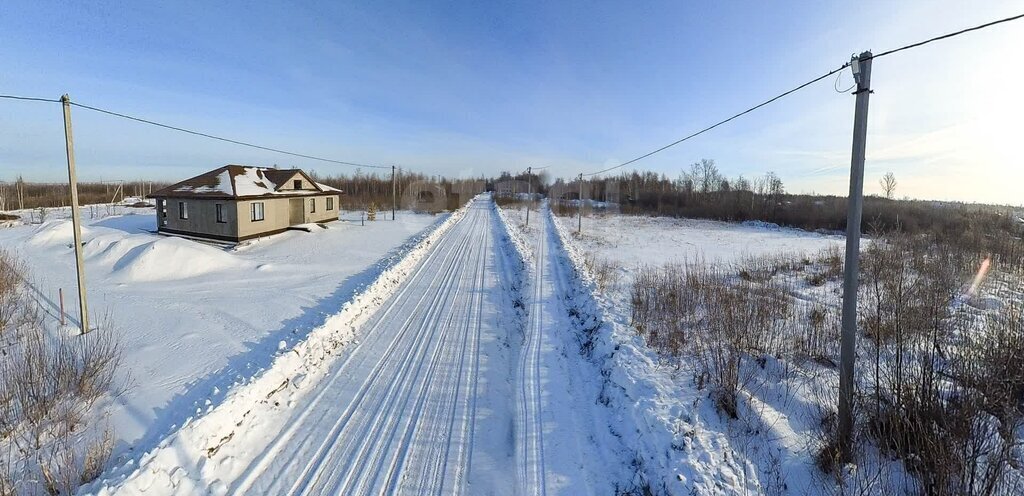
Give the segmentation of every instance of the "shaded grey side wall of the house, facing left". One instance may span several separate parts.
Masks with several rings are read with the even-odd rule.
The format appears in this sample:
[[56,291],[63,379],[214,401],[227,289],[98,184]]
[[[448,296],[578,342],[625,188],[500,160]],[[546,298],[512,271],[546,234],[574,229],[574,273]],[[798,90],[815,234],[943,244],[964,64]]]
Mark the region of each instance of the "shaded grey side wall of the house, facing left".
[[[180,218],[179,202],[186,205],[188,218]],[[157,228],[161,231],[193,233],[211,238],[236,238],[238,210],[232,200],[166,198],[157,200]],[[223,205],[224,222],[217,222],[217,207]],[[164,207],[165,208],[161,208]]]

